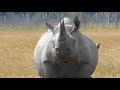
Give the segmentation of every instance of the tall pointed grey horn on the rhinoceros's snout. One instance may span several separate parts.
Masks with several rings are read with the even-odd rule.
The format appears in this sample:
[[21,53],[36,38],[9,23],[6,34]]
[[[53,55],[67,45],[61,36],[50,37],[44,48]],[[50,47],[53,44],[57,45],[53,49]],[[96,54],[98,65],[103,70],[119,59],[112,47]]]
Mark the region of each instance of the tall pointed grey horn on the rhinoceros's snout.
[[65,24],[64,19],[60,20],[60,34],[59,34],[59,40],[64,41],[66,39],[66,30],[65,30]]

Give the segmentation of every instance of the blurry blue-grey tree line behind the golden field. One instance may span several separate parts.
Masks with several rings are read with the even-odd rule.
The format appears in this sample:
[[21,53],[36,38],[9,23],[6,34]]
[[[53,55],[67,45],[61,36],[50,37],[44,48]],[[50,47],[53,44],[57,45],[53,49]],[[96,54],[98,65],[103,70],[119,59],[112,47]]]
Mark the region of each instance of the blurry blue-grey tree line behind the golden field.
[[119,26],[120,12],[0,12],[0,26],[42,26],[44,18],[52,24],[57,24],[61,18],[74,18],[78,16],[81,24],[106,25],[114,24]]

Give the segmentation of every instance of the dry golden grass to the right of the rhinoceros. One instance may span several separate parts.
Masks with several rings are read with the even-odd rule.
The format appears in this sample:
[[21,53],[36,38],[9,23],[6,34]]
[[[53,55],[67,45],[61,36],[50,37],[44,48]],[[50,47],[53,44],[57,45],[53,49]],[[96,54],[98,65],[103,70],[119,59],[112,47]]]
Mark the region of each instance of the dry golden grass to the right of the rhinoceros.
[[100,43],[99,61],[93,76],[96,78],[120,77],[120,29],[83,29],[96,43]]

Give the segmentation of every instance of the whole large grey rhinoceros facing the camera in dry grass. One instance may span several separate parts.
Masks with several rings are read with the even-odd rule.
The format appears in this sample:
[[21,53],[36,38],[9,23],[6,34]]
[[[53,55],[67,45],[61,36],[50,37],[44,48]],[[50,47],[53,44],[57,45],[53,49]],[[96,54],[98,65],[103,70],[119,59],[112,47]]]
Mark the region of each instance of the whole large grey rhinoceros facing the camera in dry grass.
[[34,64],[41,78],[91,78],[98,63],[98,48],[81,33],[80,20],[64,17],[53,26],[46,20],[34,50]]

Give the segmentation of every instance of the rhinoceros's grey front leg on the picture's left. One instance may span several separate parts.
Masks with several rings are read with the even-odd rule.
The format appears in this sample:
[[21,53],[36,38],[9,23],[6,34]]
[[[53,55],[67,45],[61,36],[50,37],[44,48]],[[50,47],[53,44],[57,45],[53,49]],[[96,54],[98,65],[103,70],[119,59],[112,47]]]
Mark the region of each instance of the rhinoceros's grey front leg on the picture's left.
[[43,62],[43,67],[44,67],[45,78],[56,78],[57,77],[57,72],[56,72],[57,67],[55,67],[54,64],[46,60]]

